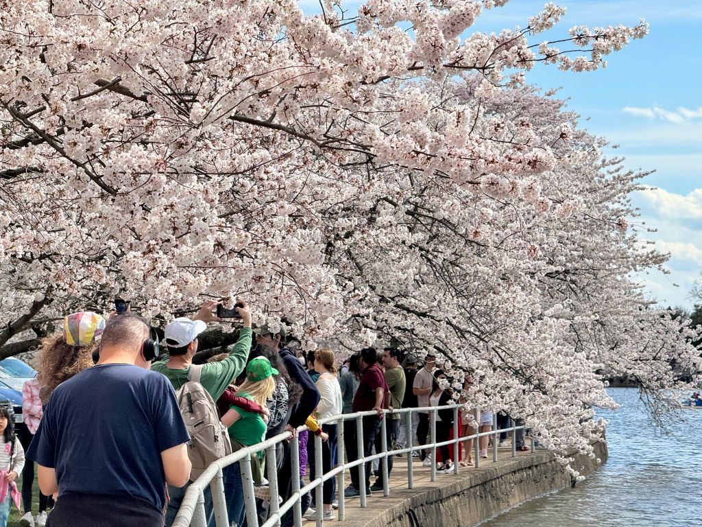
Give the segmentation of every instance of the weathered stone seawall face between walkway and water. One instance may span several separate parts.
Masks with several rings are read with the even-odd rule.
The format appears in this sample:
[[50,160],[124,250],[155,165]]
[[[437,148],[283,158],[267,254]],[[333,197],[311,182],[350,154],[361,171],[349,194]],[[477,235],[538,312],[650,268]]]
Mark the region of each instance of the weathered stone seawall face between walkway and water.
[[[595,445],[595,459],[577,455],[571,466],[583,476],[607,460],[607,445]],[[482,467],[490,467],[485,463]],[[499,512],[531,498],[574,485],[570,474],[552,455],[515,457],[513,460],[473,471],[458,481],[408,497],[385,509],[373,525],[388,527],[472,527]],[[370,525],[368,523],[367,525]]]

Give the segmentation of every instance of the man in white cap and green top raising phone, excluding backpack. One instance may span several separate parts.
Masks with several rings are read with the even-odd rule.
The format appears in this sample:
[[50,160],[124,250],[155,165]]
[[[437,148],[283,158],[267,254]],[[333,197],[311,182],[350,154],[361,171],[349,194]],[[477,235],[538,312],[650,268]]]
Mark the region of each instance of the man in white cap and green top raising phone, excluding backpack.
[[[230,382],[232,382],[232,379],[244,371],[246,359],[249,358],[251,349],[251,311],[249,310],[249,304],[246,304],[246,302],[239,301],[239,305],[241,307],[236,309],[241,316],[243,327],[239,331],[237,343],[230,347],[227,358],[218,363],[206,363],[202,365],[200,370],[199,382],[212,396],[213,401],[217,401]],[[206,330],[208,322],[219,320],[212,314],[216,306],[217,302],[205,302],[192,320],[185,317],[176,318],[164,329],[164,344],[166,344],[168,355],[163,360],[154,363],[151,369],[164,374],[173,384],[173,389],[179,389],[180,386],[183,386],[188,381],[187,374],[192,366],[192,358],[197,352],[197,336]],[[168,486],[168,495],[170,495],[171,499],[168,501],[168,508],[166,509],[166,527],[170,527],[173,520],[176,519],[176,514],[178,514],[180,503],[183,502],[187,487],[188,485],[183,487]],[[211,511],[209,488],[207,489],[205,500],[206,509]],[[209,523],[211,521],[210,519]]]

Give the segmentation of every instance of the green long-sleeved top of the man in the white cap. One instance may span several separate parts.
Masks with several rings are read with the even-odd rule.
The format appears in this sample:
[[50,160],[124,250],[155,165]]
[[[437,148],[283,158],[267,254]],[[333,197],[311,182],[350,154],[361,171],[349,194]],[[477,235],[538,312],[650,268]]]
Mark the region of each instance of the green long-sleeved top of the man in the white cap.
[[[229,356],[218,363],[206,363],[202,367],[200,374],[200,384],[209,393],[214,401],[220,398],[230,382],[237,377],[246,367],[246,359],[249,358],[251,349],[251,327],[242,327],[239,333],[239,340],[230,347]],[[173,384],[173,389],[178,389],[187,382],[187,372],[185,370],[173,370],[166,366],[170,357],[166,355],[159,362],[151,365],[154,372],[166,375],[166,378]]]

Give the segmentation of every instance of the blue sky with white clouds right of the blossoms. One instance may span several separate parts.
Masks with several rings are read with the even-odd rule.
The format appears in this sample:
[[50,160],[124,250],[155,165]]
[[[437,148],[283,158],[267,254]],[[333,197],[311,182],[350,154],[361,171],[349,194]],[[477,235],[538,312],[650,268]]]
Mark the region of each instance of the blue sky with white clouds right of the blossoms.
[[[702,270],[702,55],[696,37],[702,0],[556,3],[568,13],[545,37],[562,38],[578,24],[635,25],[644,18],[651,26],[646,38],[607,57],[604,70],[575,74],[541,66],[527,74],[527,82],[562,88],[558,96],[569,98],[569,107],[583,117],[581,125],[619,145],[610,152],[625,156],[626,167],[656,171],[644,178],[649,188],[636,193],[633,202],[644,223],[640,237],[670,252],[670,273],[656,271],[637,279],[663,306],[689,309],[694,304],[689,291]],[[524,27],[543,4],[512,0],[486,11],[472,29]]]

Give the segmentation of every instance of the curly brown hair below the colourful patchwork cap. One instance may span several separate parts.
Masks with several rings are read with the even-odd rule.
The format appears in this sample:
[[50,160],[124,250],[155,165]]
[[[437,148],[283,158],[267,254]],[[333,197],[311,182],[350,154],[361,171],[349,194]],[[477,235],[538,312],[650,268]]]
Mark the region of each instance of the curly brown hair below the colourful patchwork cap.
[[37,375],[39,386],[44,388],[42,395],[48,398],[56,386],[91,367],[93,365],[93,351],[97,348],[98,342],[80,348],[69,346],[63,340],[61,332],[44,338],[39,347],[39,373]]

